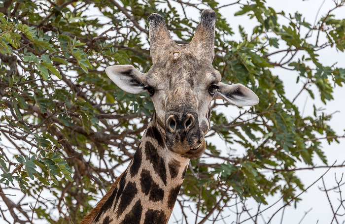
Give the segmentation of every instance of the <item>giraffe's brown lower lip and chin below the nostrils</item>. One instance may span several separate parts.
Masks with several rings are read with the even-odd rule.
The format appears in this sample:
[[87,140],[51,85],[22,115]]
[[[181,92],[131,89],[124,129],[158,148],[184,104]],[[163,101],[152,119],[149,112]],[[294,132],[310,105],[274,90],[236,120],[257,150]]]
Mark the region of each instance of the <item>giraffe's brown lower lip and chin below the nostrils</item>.
[[187,141],[183,143],[174,144],[171,148],[168,147],[170,151],[181,155],[182,157],[188,159],[197,159],[200,157],[206,150],[206,142],[204,138],[200,138],[195,141],[195,143],[190,146]]

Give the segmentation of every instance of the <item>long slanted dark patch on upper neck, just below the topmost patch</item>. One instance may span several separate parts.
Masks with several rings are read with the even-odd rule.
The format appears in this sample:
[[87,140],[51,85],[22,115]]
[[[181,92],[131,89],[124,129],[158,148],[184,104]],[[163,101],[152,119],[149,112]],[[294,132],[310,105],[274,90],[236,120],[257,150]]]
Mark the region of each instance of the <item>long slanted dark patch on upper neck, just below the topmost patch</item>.
[[164,159],[159,156],[157,149],[151,142],[146,142],[145,144],[145,156],[146,160],[152,163],[153,169],[162,179],[164,185],[167,186],[167,169]]

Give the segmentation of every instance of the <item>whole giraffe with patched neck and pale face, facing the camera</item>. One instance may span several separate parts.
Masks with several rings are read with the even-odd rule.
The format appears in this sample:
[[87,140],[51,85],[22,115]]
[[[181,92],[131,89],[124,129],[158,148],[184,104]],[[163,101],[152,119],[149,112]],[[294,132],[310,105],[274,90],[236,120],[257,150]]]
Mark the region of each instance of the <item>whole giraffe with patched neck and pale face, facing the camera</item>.
[[148,17],[152,67],[141,73],[133,65],[105,69],[122,90],[146,91],[155,111],[126,171],[80,224],[167,224],[189,160],[200,157],[210,127],[211,101],[237,106],[259,102],[241,84],[220,82],[212,67],[216,14],[203,11],[190,43],[176,44],[164,18]]

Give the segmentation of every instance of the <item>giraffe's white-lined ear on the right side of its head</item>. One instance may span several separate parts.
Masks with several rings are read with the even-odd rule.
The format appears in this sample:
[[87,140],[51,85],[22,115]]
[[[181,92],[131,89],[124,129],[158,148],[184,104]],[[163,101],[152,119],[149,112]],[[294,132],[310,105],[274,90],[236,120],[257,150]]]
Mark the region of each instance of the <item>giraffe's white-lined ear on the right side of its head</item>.
[[217,98],[225,99],[236,106],[253,106],[259,103],[259,97],[241,84],[226,85],[219,83]]

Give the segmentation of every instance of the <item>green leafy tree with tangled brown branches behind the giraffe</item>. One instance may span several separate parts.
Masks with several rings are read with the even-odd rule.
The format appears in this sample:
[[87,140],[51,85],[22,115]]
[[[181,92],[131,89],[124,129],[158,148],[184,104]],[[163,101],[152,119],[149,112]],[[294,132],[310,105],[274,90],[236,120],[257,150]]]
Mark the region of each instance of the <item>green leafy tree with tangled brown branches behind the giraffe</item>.
[[[235,157],[208,143],[204,156],[191,161],[176,206],[184,214],[185,202],[193,201],[204,223],[233,200],[254,198],[267,204],[268,195],[278,194],[286,204],[297,202],[297,189],[306,187],[296,176],[296,162],[313,166],[318,157],[327,165],[320,139],[331,143],[342,137],[328,125],[331,115],[314,106],[313,116],[303,116],[295,99],[307,91],[326,104],[334,89],[344,85],[345,69],[322,64],[318,51],[344,52],[345,19],[332,12],[344,8],[345,1],[335,0],[334,8],[315,24],[299,13],[278,12],[265,0],[227,6],[215,0],[176,2],[183,9],[217,12],[213,65],[223,82],[245,84],[260,98],[234,120],[213,110],[208,137],[219,135],[245,154]],[[154,110],[147,94],[124,93],[112,84],[105,67],[149,69],[146,18],[151,13],[165,17],[173,39],[181,44],[191,40],[198,21],[179,14],[169,0],[0,4],[2,218],[23,224],[78,223],[123,170],[122,164],[131,160]],[[252,34],[239,28],[241,41],[231,40],[233,28],[219,13],[234,5],[241,6],[236,15],[248,15],[257,24]],[[280,25],[282,18],[290,21],[288,26]],[[321,35],[327,42],[319,40]],[[278,53],[281,61],[275,62]],[[274,67],[295,71],[296,82],[304,83],[293,100],[272,74]],[[223,101],[213,104],[224,106],[228,104]],[[14,201],[13,194],[23,198]]]

